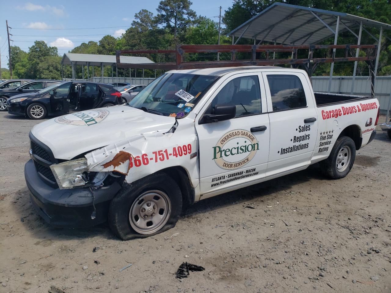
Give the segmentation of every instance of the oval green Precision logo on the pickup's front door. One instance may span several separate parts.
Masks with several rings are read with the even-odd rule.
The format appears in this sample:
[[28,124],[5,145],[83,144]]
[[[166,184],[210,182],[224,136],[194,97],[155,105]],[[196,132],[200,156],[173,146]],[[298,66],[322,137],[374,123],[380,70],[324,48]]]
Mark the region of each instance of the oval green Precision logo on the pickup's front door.
[[259,150],[256,137],[244,129],[235,129],[222,136],[213,149],[213,160],[226,170],[235,170],[246,165]]

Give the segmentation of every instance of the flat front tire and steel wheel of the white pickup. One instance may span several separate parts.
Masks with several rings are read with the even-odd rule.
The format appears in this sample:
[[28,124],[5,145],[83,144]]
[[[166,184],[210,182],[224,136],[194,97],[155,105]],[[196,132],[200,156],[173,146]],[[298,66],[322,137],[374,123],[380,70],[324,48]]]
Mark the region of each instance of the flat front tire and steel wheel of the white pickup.
[[122,240],[145,238],[175,227],[181,210],[178,184],[166,173],[158,172],[124,184],[110,202],[108,222]]

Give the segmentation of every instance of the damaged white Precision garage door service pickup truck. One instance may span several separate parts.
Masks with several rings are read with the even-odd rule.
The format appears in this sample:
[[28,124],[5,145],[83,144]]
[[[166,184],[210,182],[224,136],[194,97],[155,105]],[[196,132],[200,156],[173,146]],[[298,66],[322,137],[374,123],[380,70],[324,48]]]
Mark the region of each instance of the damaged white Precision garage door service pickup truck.
[[25,179],[54,226],[108,220],[121,239],[147,237],[189,204],[317,162],[345,177],[378,110],[373,97],[314,93],[302,70],[173,70],[126,105],[33,127]]

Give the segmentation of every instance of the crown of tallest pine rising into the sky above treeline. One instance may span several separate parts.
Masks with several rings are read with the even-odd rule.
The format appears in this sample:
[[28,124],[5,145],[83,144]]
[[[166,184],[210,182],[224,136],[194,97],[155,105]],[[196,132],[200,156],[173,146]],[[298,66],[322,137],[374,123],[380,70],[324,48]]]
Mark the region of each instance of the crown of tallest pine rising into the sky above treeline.
[[158,20],[165,28],[173,30],[174,38],[177,37],[178,29],[185,29],[190,25],[197,14],[190,9],[193,3],[189,0],[163,0],[160,1],[158,8]]

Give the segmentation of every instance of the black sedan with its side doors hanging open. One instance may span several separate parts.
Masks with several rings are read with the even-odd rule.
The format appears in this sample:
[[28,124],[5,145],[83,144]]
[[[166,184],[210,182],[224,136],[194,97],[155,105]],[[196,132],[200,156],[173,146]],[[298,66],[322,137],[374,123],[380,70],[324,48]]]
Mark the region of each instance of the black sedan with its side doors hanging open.
[[48,114],[61,115],[121,104],[121,93],[113,86],[97,82],[66,81],[38,92],[13,96],[7,100],[8,113],[43,119]]

